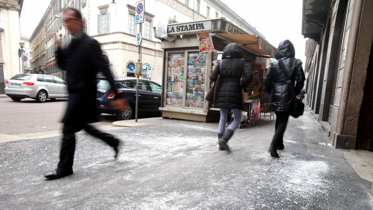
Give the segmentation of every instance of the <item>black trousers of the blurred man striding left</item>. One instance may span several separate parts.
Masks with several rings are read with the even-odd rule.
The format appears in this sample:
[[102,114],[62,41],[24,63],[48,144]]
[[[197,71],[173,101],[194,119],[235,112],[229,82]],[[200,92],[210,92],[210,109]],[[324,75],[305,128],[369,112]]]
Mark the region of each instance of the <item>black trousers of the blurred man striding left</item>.
[[119,140],[115,136],[110,135],[109,133],[101,132],[91,125],[69,125],[66,124],[63,126],[63,138],[60,152],[60,162],[58,167],[62,168],[72,168],[74,163],[74,154],[75,154],[75,133],[79,130],[84,129],[90,135],[97,137],[108,145],[115,147],[118,146]]

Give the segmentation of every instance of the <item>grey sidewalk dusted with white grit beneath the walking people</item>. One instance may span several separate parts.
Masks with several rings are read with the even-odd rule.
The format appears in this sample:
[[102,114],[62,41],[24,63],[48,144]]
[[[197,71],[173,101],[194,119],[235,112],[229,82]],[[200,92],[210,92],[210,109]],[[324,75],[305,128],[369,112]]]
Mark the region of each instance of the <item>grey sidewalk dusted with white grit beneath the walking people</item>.
[[290,119],[285,150],[267,149],[275,120],[238,129],[217,150],[218,123],[141,119],[110,130],[113,151],[77,135],[74,174],[45,181],[60,137],[0,143],[0,209],[373,209],[371,182],[334,149],[309,112]]

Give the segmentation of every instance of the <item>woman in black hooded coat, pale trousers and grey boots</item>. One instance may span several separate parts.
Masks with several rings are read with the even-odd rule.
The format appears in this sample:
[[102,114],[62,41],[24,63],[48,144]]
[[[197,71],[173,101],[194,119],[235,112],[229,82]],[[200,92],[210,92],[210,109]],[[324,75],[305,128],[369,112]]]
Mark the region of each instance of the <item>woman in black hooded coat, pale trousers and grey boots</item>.
[[[220,108],[220,122],[218,130],[219,150],[227,150],[228,140],[232,137],[234,130],[241,123],[242,89],[246,89],[251,83],[253,74],[250,67],[242,58],[242,48],[237,43],[230,43],[223,50],[222,61],[217,65],[210,75],[210,80],[215,82],[220,74],[222,83],[217,94],[215,107]],[[243,74],[243,75],[242,75]],[[245,79],[240,83],[241,77]],[[228,118],[228,109],[234,114],[234,120],[225,130]]]

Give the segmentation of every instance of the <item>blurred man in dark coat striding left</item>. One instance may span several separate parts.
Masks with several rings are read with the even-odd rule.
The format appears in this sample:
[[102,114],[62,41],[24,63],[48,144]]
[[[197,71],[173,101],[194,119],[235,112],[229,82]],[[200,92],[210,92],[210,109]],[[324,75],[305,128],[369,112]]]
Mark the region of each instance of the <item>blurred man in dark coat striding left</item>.
[[[60,161],[57,169],[44,175],[47,179],[58,179],[73,173],[72,166],[75,153],[75,133],[84,129],[87,133],[102,139],[118,155],[119,139],[108,133],[101,132],[88,123],[98,122],[96,112],[97,79],[96,73],[103,72],[109,81],[112,90],[117,93],[113,75],[109,64],[104,60],[100,44],[83,32],[83,21],[79,10],[66,9],[63,12],[64,25],[74,37],[66,49],[61,49],[60,42],[56,41],[57,64],[68,73],[69,101],[62,122],[63,139],[60,152]],[[113,108],[121,109],[128,103],[124,98],[112,101]]]

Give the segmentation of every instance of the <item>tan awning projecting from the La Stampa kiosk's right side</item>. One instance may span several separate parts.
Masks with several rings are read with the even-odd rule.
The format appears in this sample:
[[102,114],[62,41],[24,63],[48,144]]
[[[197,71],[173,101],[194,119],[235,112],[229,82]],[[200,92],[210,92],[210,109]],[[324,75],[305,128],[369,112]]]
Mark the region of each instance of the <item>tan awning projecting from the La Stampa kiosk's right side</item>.
[[241,44],[242,48],[258,56],[275,57],[276,48],[258,35],[217,33],[216,36],[227,42]]

